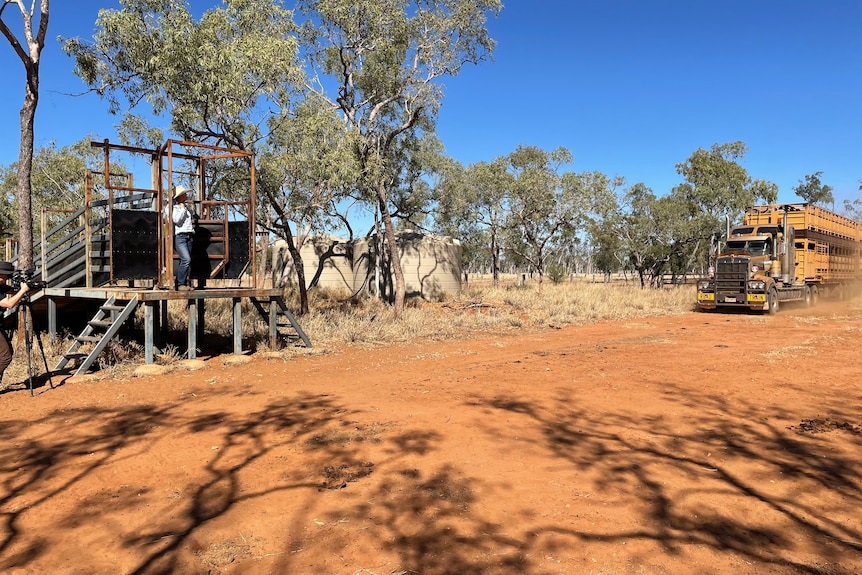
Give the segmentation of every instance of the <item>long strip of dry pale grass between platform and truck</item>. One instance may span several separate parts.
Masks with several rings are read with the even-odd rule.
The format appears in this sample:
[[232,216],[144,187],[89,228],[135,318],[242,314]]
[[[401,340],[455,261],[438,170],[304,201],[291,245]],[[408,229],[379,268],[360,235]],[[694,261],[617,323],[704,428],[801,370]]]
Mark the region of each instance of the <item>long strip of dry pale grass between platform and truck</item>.
[[641,290],[631,285],[566,283],[541,287],[469,287],[442,303],[411,302],[396,318],[377,300],[344,300],[313,293],[311,314],[301,320],[309,338],[328,345],[456,339],[475,332],[543,329],[601,320],[692,311],[691,288]]

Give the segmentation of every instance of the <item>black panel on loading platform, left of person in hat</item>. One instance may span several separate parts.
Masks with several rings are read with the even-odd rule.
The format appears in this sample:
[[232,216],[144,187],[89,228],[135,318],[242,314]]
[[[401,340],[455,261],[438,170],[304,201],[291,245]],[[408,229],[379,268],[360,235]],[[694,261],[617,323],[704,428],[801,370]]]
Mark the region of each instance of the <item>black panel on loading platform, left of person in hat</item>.
[[158,277],[159,214],[142,210],[112,210],[111,220],[114,279]]

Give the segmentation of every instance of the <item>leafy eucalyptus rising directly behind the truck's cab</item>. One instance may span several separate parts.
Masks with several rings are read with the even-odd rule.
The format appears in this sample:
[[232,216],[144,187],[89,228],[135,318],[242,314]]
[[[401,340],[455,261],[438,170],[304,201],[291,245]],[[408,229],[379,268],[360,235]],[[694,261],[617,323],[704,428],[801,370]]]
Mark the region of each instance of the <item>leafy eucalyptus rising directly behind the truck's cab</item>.
[[773,203],[778,198],[778,186],[765,180],[754,180],[739,162],[748,151],[743,142],[714,144],[709,150],[696,150],[677,164],[676,171],[684,182],[671,190],[671,195],[688,204],[688,213],[681,216],[686,237],[678,240],[689,250],[686,267],[698,258],[704,259],[709,245],[721,237],[725,217],[739,219],[745,208],[761,201]]

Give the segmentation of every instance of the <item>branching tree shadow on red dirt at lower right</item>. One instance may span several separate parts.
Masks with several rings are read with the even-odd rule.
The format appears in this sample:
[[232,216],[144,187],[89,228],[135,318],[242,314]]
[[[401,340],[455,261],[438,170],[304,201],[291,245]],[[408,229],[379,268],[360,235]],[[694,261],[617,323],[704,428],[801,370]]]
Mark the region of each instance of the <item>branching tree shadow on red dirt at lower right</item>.
[[[757,406],[730,406],[722,398],[671,384],[664,391],[678,403],[696,406],[698,416],[686,428],[675,428],[660,415],[641,419],[591,413],[578,409],[577,398],[570,395],[560,395],[550,407],[522,398],[475,398],[475,406],[516,414],[539,429],[542,439],[534,447],[551,452],[573,474],[591,470],[584,490],[601,493],[613,487],[616,493],[631,494],[623,504],[640,509],[637,527],[532,529],[524,534],[525,553],[535,554],[538,541],[553,534],[571,548],[590,541],[648,540],[669,556],[689,546],[706,546],[794,573],[855,572],[840,564],[862,560],[862,533],[845,521],[854,513],[850,510],[862,507],[858,426],[829,426],[847,433],[840,438],[842,454],[833,452],[834,436],[772,423],[792,414],[764,417]],[[486,432],[499,437],[500,430]],[[833,453],[824,456],[827,452]],[[662,479],[669,476],[685,479],[669,487]],[[776,479],[783,488],[773,485]],[[728,513],[723,506],[731,503],[777,519]],[[791,531],[802,534],[817,556],[833,565],[792,559],[788,551],[798,542]]]

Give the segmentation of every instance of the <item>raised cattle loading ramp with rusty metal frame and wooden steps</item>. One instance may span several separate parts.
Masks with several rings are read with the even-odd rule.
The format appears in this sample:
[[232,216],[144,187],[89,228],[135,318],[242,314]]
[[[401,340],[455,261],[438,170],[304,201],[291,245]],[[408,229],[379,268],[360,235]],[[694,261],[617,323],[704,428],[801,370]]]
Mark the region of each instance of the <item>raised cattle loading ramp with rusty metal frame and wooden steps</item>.
[[[248,300],[268,324],[272,349],[280,340],[311,347],[308,336],[285,304],[281,290],[259,288],[254,285],[254,274],[246,274],[249,268],[255,267],[254,221],[253,217],[238,220],[231,214],[237,206],[240,211],[244,209],[246,214],[253,214],[253,183],[252,197],[246,201],[221,200],[206,193],[205,160],[220,158],[219,154],[230,157],[236,154],[244,159],[251,157],[253,165],[253,156],[210,146],[203,146],[205,156],[172,154],[174,144],[169,140],[161,150],[141,151],[107,142],[93,143],[105,150],[106,165],[110,165],[109,152],[119,148],[150,154],[156,159],[167,155],[168,172],[178,159],[198,166],[200,200],[195,202],[195,208],[202,217],[196,225],[191,270],[196,289],[166,289],[173,285],[177,258],[173,254],[171,230],[163,225],[161,210],[156,209],[169,197],[163,188],[172,189],[170,181],[174,175],[164,173],[164,162],[160,161],[158,170],[154,169],[159,173],[154,189],[135,188],[130,177],[112,180],[102,177],[103,172],[88,172],[85,205],[71,212],[43,210],[42,234],[34,246],[33,278],[44,282],[46,287],[31,293],[30,302],[37,310],[46,310],[47,329],[52,337],[56,337],[58,331],[59,310],[81,302],[97,306],[95,315],[75,337],[54,367],[55,371],[75,362],[75,374],[85,373],[140,306],[144,306],[145,360],[153,363],[159,350],[160,328],[167,325],[167,304],[174,300],[187,303],[187,355],[190,359],[196,356],[198,337],[203,333],[206,302],[213,299],[232,302],[233,351],[236,354],[242,353],[241,304],[244,300]],[[100,182],[104,183],[103,197],[95,197],[93,192]],[[53,225],[49,220],[53,220]],[[16,260],[17,257],[11,258],[13,264]],[[243,281],[251,285],[242,286]]]

